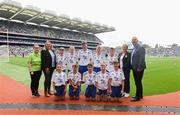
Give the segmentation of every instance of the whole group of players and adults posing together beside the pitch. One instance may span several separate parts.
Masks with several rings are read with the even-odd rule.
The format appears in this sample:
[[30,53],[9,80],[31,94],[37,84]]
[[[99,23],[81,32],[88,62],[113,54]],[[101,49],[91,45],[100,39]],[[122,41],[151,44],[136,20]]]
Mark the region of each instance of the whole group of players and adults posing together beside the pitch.
[[46,41],[45,49],[41,51],[35,44],[34,52],[28,57],[32,96],[40,96],[38,85],[43,71],[45,97],[54,94],[56,101],[63,100],[67,93],[70,99],[79,99],[81,84],[85,83],[84,96],[87,101],[107,101],[108,96],[111,101],[120,101],[121,97],[129,97],[132,68],[137,91],[131,101],[139,101],[143,98],[141,80],[146,68],[145,50],[137,37],[132,38],[132,44],[137,49],[131,53],[128,45],[123,44],[118,55],[115,55],[114,48],[110,48],[107,57],[102,53],[101,46],[97,46],[92,53],[86,41],[82,42],[82,49],[77,53],[73,46],[70,46],[68,53],[63,47],[54,51],[50,41]]

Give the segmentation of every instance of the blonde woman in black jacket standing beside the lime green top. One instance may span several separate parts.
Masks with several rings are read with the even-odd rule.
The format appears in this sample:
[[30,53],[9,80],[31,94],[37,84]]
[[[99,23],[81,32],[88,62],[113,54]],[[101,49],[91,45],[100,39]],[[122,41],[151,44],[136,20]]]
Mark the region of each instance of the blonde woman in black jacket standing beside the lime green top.
[[41,68],[44,72],[44,95],[49,97],[51,94],[51,78],[53,71],[56,67],[56,55],[52,50],[52,44],[50,41],[46,41],[45,49],[41,51]]

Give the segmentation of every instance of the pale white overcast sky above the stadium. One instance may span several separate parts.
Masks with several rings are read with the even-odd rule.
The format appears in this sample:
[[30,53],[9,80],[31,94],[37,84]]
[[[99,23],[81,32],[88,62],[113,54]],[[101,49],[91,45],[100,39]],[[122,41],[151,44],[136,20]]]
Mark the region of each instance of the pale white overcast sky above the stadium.
[[[2,0],[0,0],[2,1]],[[15,0],[57,14],[114,26],[97,35],[105,46],[118,46],[137,36],[143,43],[180,45],[179,0]]]

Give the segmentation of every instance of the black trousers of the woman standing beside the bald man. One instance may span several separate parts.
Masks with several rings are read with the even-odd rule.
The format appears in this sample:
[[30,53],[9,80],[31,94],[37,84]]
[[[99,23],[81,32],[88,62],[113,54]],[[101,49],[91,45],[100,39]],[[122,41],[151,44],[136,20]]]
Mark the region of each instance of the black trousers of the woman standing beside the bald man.
[[123,69],[124,77],[125,77],[125,83],[124,83],[124,92],[129,93],[130,92],[130,69]]

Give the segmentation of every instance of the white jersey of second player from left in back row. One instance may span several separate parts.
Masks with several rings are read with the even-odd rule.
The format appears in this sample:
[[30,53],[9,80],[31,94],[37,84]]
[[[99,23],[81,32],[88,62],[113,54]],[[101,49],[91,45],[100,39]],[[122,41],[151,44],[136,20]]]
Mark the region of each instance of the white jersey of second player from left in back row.
[[75,64],[78,61],[78,57],[75,54],[68,54],[66,57],[66,63],[68,65],[68,70],[72,70],[72,64]]

